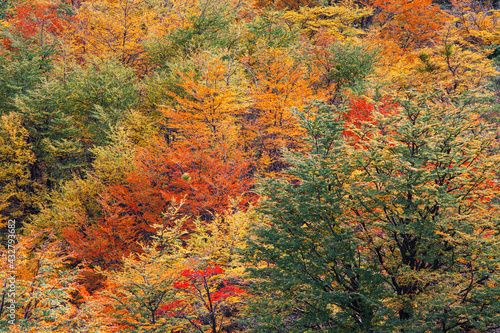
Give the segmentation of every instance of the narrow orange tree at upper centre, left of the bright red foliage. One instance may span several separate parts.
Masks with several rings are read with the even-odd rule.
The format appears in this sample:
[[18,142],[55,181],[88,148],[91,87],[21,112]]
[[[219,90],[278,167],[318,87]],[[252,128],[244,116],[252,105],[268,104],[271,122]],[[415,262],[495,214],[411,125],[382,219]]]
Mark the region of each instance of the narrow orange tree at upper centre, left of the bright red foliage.
[[281,150],[301,146],[303,130],[293,109],[321,98],[314,89],[317,78],[281,49],[263,50],[242,61],[252,79],[248,87],[252,104],[242,128],[245,142],[255,151],[261,172],[279,171],[284,167]]

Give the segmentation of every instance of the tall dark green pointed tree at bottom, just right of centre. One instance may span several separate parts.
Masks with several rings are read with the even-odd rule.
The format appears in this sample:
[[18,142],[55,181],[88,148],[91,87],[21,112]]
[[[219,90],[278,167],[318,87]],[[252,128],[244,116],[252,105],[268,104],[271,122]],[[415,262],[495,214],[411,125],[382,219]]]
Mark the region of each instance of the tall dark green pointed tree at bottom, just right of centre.
[[270,223],[246,251],[263,295],[251,306],[254,331],[369,330],[375,317],[378,278],[358,260],[356,231],[343,217],[354,166],[345,160],[340,118],[320,111],[306,125],[310,152],[287,156],[295,181],[269,179],[261,188]]

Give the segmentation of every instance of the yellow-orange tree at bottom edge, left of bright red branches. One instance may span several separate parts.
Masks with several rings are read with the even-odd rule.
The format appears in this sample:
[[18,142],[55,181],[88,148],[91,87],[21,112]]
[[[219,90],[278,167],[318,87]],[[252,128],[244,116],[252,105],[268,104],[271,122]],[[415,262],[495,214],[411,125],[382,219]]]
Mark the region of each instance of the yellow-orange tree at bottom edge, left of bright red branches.
[[169,229],[156,225],[154,240],[141,243],[140,253],[124,257],[119,270],[96,270],[106,281],[92,296],[82,286],[85,304],[79,315],[80,330],[168,332],[178,326],[163,318],[161,308],[175,297],[174,282],[184,269],[183,223],[178,220]]

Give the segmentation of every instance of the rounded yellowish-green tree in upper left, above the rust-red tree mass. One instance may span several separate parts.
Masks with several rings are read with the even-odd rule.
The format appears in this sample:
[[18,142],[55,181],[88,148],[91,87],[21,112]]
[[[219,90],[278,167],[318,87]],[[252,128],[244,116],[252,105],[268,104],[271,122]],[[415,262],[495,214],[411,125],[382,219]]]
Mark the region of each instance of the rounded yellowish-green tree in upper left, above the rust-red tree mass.
[[87,155],[92,146],[109,144],[112,131],[139,109],[138,79],[117,60],[91,58],[85,67],[72,64],[58,74],[65,100],[60,108],[81,130]]

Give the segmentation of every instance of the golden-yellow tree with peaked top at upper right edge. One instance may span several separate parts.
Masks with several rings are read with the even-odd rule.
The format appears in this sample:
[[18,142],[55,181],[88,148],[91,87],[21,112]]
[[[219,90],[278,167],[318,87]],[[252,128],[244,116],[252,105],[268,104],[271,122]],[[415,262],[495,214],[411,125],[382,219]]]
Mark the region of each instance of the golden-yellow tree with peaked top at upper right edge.
[[437,35],[426,47],[415,50],[398,52],[385,47],[375,67],[379,82],[386,87],[396,84],[400,91],[436,92],[441,98],[471,94],[491,98],[489,86],[497,70],[488,59],[490,51],[464,44],[466,35],[454,23],[446,24]]

